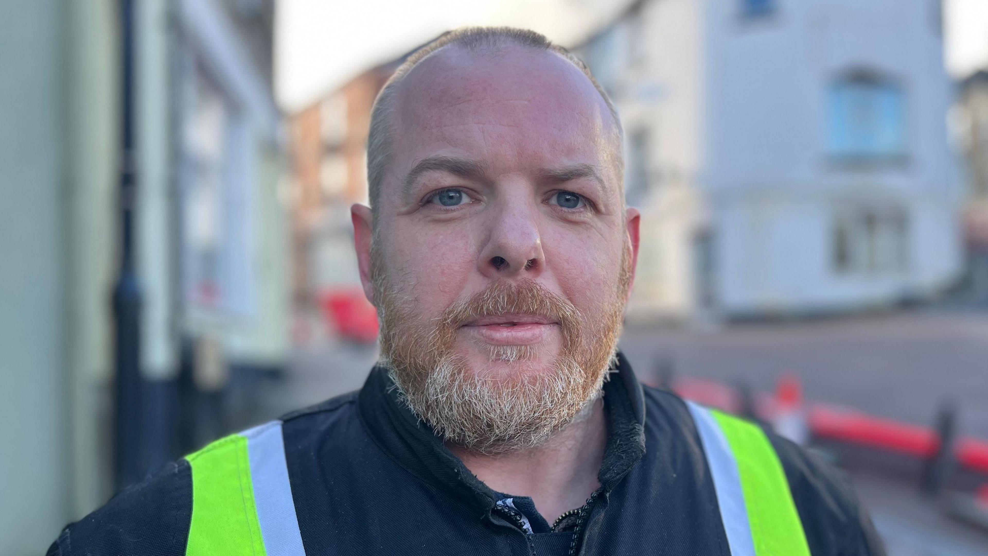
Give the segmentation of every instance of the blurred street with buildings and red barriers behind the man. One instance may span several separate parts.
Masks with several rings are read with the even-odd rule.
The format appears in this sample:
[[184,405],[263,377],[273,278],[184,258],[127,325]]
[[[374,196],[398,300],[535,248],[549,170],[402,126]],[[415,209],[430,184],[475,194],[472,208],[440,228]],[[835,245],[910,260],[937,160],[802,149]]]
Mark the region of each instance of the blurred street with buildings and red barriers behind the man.
[[462,25],[570,47],[642,211],[643,382],[988,554],[988,1],[0,0],[0,553],[359,388],[374,96]]

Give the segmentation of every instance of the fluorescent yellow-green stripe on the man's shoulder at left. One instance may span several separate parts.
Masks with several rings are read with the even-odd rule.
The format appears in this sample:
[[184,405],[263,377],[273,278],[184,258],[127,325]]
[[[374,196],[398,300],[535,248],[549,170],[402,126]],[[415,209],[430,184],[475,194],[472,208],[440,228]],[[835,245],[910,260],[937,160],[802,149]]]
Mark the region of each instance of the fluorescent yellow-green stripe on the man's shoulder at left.
[[186,556],[266,556],[254,506],[247,439],[232,434],[186,457],[192,524]]

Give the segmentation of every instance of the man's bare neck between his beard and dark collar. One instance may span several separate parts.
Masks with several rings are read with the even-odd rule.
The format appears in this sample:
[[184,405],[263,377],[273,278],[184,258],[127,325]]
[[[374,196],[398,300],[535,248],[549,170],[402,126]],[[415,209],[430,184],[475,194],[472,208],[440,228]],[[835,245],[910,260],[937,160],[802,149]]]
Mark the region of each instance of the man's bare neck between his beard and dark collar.
[[600,487],[597,475],[607,445],[604,400],[586,410],[534,448],[486,455],[449,444],[450,450],[477,479],[495,491],[527,496],[551,524],[568,510],[580,508]]

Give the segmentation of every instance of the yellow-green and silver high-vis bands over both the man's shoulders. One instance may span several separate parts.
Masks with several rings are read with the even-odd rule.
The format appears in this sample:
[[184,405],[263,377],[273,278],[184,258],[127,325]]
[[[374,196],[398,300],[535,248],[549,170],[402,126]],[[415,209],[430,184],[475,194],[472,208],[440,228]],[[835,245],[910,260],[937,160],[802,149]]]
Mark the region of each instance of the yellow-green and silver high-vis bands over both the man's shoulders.
[[[810,556],[782,463],[762,429],[687,402],[713,480],[731,556]],[[304,556],[282,421],[186,458],[193,509],[186,556]]]

